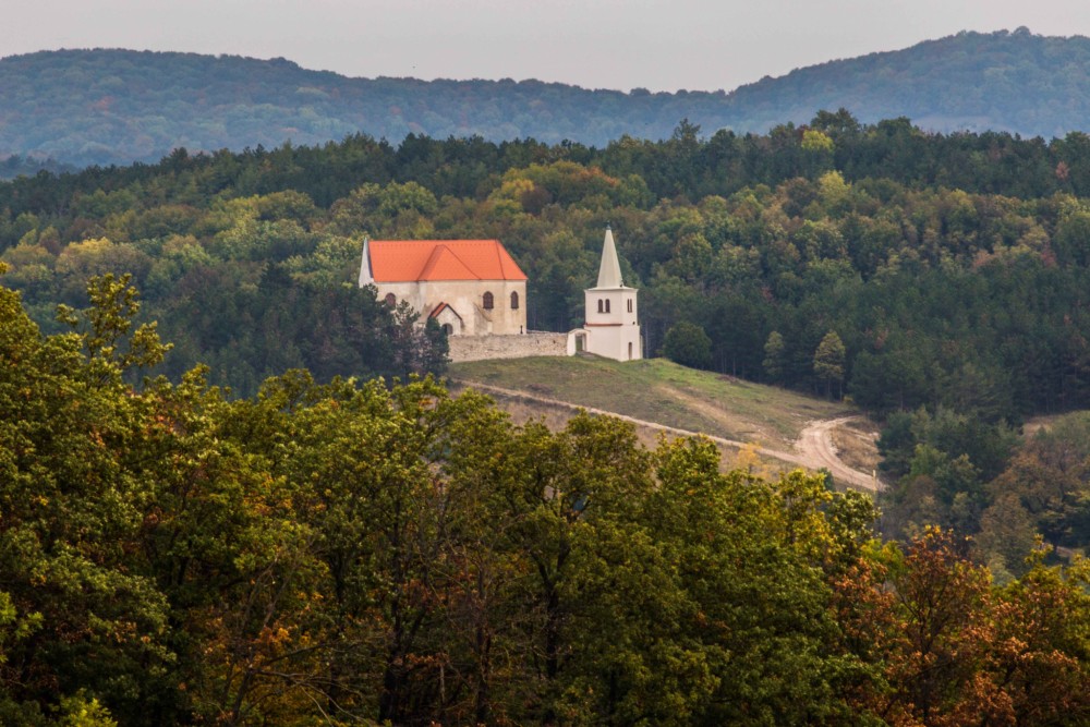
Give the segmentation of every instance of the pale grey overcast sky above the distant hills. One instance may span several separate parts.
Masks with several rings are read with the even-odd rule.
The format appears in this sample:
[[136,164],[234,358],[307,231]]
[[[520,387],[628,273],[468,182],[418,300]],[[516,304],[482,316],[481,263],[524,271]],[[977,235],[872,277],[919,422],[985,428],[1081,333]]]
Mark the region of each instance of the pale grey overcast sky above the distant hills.
[[0,56],[283,57],[350,76],[730,90],[959,31],[1090,35],[1087,0],[0,0]]

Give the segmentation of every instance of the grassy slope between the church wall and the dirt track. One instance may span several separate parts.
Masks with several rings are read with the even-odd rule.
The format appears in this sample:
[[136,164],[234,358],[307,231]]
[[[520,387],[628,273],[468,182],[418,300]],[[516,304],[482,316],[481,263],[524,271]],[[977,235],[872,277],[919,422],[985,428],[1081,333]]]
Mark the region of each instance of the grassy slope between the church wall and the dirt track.
[[770,448],[789,449],[811,420],[853,413],[844,404],[665,359],[476,361],[452,364],[449,376]]

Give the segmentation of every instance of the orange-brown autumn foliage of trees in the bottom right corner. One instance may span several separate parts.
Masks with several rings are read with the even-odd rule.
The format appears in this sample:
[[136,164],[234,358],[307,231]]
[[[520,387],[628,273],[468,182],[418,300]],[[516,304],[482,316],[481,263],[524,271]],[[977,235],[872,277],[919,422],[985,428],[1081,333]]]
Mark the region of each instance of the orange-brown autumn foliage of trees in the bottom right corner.
[[858,706],[906,726],[1085,717],[1090,671],[1077,633],[1087,595],[1040,565],[996,589],[962,550],[952,533],[932,528],[891,562],[891,590],[873,579],[881,571],[868,579],[865,568],[837,581],[846,634],[883,665]]

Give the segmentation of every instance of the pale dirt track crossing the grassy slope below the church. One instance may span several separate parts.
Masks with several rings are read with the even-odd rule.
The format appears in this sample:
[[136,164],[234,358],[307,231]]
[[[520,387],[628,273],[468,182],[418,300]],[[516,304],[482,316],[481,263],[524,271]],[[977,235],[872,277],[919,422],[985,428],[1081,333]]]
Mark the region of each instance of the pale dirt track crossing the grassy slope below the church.
[[[690,432],[688,429],[681,429],[676,426],[666,426],[664,424],[658,424],[657,422],[647,422],[644,420],[635,419],[633,416],[628,416],[626,414],[618,414],[617,412],[608,412],[602,409],[595,409],[594,407],[580,407],[579,404],[573,404],[569,401],[560,401],[559,399],[550,399],[548,397],[542,397],[535,393],[528,393],[526,391],[518,391],[516,389],[505,389],[499,386],[492,386],[489,384],[480,384],[477,381],[457,381],[459,386],[464,386],[468,388],[476,389],[483,393],[498,393],[504,397],[512,397],[516,399],[523,399],[528,401],[535,401],[543,404],[548,404],[550,407],[560,407],[571,410],[583,410],[591,414],[603,414],[606,416],[613,416],[619,419],[622,422],[630,422],[637,426],[642,426],[649,429],[654,429],[657,432],[665,432],[667,434],[674,434],[680,437],[706,437],[712,441],[726,445],[727,447],[732,447],[735,449],[747,447],[751,443],[737,441],[735,439],[724,439],[723,437],[714,437],[707,434],[702,434],[700,432]],[[759,448],[758,453],[764,457],[771,457],[777,459],[782,462],[790,462],[791,464],[798,464],[800,467],[808,468],[810,470],[820,470],[822,468],[828,470],[833,473],[833,478],[857,487],[859,489],[867,489],[869,492],[877,492],[882,488],[882,484],[877,482],[874,477],[867,474],[865,472],[860,472],[849,468],[847,464],[840,461],[836,456],[836,447],[833,446],[832,437],[829,433],[837,426],[841,426],[851,420],[857,419],[856,416],[841,416],[839,419],[820,420],[815,422],[810,422],[807,427],[802,429],[798,441],[795,443],[795,450],[792,452],[776,450],[776,449],[765,449]]]

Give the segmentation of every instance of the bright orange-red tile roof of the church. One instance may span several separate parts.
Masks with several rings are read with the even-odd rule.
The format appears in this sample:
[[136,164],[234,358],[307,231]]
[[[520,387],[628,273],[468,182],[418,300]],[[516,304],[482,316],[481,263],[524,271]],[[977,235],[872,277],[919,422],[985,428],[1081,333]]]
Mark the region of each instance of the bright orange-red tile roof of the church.
[[499,240],[372,240],[375,282],[525,280]]

